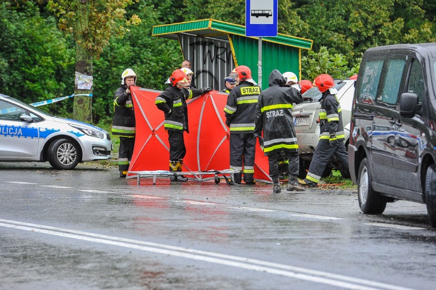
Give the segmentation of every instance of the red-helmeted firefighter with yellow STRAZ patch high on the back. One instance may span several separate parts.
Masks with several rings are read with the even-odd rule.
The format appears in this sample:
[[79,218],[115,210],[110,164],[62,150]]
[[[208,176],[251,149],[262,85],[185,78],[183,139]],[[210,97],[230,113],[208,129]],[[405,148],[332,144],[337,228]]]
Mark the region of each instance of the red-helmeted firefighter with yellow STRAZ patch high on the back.
[[[241,170],[245,184],[254,184],[256,138],[253,132],[260,88],[248,67],[238,66],[235,70],[238,85],[230,91],[224,108],[226,125],[230,127],[230,169]],[[241,184],[242,174],[233,176],[235,183]]]

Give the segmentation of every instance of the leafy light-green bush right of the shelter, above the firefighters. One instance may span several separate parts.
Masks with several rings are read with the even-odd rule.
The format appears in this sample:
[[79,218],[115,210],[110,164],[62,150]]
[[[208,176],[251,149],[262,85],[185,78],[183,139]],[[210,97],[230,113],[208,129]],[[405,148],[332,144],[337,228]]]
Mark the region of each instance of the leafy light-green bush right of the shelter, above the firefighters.
[[333,78],[348,78],[357,74],[358,66],[349,69],[347,65],[348,61],[342,54],[330,54],[322,46],[318,53],[309,51],[308,56],[301,57],[302,78],[313,80],[323,73],[330,74]]

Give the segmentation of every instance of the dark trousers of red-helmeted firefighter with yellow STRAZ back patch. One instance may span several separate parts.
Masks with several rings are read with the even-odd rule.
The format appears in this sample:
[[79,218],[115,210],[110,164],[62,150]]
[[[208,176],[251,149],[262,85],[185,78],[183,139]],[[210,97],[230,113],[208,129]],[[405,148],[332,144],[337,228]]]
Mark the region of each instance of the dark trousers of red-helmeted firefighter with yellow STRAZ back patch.
[[[256,152],[256,137],[253,133],[230,134],[230,169],[241,170],[245,183],[254,182],[254,155]],[[233,175],[236,183],[241,183],[242,175]]]

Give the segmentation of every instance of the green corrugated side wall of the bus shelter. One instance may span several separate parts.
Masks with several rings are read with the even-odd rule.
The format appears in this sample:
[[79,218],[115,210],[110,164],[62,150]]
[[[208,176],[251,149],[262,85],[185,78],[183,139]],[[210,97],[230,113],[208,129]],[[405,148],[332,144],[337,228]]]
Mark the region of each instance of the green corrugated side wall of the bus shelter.
[[[244,65],[251,69],[252,77],[258,82],[257,63],[258,39],[244,36],[232,36],[233,48],[238,66]],[[268,88],[268,78],[272,70],[281,73],[292,71],[299,76],[299,49],[271,42],[262,42],[262,89]]]

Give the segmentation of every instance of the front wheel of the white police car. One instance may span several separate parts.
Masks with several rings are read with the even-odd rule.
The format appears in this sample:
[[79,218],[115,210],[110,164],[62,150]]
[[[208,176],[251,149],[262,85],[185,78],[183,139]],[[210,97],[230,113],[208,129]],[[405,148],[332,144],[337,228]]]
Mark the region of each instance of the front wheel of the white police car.
[[55,169],[74,169],[80,161],[78,145],[69,139],[57,139],[50,144],[47,158]]

